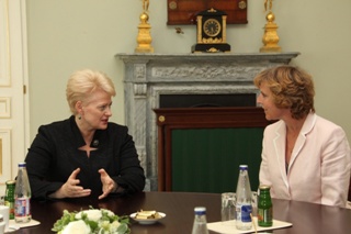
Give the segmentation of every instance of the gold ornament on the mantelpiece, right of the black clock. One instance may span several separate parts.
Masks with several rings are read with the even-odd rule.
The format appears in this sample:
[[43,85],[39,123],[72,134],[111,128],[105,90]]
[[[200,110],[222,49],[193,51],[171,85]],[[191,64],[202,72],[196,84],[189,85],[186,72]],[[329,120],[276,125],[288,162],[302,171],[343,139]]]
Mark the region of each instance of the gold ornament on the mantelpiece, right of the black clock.
[[267,23],[264,25],[264,34],[262,37],[263,46],[260,48],[260,52],[282,52],[282,48],[278,45],[279,36],[276,33],[278,25],[274,23],[275,15],[272,12],[273,0],[264,1],[264,10],[268,10],[269,1],[269,13],[265,16]]

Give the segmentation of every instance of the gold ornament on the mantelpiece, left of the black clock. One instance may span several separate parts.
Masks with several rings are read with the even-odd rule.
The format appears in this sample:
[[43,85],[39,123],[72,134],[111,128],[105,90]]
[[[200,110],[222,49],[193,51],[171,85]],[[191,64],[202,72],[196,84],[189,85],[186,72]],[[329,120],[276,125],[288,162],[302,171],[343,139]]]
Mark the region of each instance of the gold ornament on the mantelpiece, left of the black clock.
[[154,47],[151,46],[151,35],[150,35],[150,24],[148,23],[149,15],[149,0],[143,0],[143,13],[140,14],[140,23],[138,25],[139,32],[136,42],[138,46],[135,48],[136,53],[154,53]]

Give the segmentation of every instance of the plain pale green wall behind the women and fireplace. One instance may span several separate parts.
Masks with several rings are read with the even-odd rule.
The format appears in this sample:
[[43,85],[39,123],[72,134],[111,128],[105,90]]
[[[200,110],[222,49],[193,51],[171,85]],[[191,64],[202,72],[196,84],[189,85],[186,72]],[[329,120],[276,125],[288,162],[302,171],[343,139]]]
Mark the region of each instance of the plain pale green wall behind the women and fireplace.
[[[124,123],[123,63],[117,53],[134,53],[141,0],[30,0],[27,5],[31,140],[41,124],[69,116],[65,89],[69,75],[93,68],[113,78],[117,89],[112,121]],[[308,70],[316,83],[316,110],[341,125],[351,140],[351,1],[273,1],[284,52],[301,52],[292,64]],[[155,53],[190,53],[195,25],[168,26],[167,1],[150,0]],[[263,0],[248,0],[248,24],[228,25],[233,53],[262,46]]]

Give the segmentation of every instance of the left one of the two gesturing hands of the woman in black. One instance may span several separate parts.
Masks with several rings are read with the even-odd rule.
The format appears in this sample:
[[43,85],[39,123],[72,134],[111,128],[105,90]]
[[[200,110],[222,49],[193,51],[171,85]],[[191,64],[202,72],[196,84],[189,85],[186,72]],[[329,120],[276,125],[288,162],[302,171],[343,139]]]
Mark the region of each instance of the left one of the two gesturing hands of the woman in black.
[[69,176],[67,181],[59,188],[56,192],[52,193],[52,198],[80,198],[90,196],[90,189],[83,189],[83,187],[78,186],[79,179],[77,179],[77,175],[80,172],[80,168],[73,170],[73,172]]

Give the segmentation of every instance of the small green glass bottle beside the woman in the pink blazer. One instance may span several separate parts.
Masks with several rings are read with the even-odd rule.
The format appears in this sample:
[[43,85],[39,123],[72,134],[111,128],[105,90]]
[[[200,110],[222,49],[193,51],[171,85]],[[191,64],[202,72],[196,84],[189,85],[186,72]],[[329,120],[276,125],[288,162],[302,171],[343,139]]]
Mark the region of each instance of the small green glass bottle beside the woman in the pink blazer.
[[258,225],[272,226],[273,225],[273,204],[269,186],[260,186],[258,198]]

